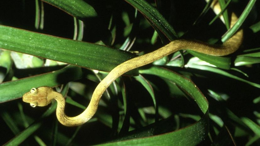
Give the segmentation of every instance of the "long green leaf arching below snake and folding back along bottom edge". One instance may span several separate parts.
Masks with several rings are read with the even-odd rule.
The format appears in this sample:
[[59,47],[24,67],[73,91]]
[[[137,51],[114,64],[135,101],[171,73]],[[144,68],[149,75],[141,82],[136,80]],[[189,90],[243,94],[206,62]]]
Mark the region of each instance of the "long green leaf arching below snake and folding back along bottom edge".
[[[140,70],[140,73],[144,74],[152,74],[159,76],[161,78],[166,78],[170,81],[175,82],[179,85],[183,90],[185,90],[189,95],[191,95],[194,100],[199,105],[201,111],[205,114],[198,122],[184,127],[180,130],[174,132],[168,132],[160,135],[149,136],[144,138],[134,138],[131,140],[123,140],[111,143],[100,144],[99,146],[130,146],[130,145],[160,145],[160,146],[193,146],[199,144],[208,133],[208,101],[204,97],[204,95],[200,92],[200,90],[196,87],[196,85],[189,79],[178,75],[170,70],[158,67],[151,67],[149,69]],[[189,134],[187,134],[189,133]]]

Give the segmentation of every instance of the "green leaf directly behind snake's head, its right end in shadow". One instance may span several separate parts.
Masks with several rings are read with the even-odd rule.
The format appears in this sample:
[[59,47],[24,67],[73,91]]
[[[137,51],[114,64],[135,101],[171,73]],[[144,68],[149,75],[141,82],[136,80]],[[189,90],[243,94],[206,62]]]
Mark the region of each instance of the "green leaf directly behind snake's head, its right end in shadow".
[[40,74],[0,84],[0,102],[14,100],[33,87],[57,86],[81,78],[81,68],[68,66],[50,73]]

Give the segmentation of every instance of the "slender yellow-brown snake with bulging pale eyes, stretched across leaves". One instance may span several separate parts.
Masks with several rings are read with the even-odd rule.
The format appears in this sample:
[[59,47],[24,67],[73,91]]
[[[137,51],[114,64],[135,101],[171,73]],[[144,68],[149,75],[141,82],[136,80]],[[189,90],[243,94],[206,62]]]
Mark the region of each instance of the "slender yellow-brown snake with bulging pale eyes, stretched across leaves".
[[[219,4],[214,0],[211,5],[214,10],[219,10]],[[220,12],[220,11],[219,11]],[[237,16],[231,14],[232,27],[237,21]],[[65,126],[77,126],[87,122],[97,111],[98,104],[102,94],[109,87],[109,85],[116,80],[122,74],[154,62],[162,57],[165,57],[173,52],[179,50],[193,50],[204,54],[214,55],[214,56],[224,56],[235,52],[242,43],[243,31],[239,30],[233,35],[228,41],[222,45],[209,45],[202,41],[196,40],[175,40],[169,44],[161,47],[158,50],[144,54],[142,56],[130,59],[114,68],[96,87],[90,103],[85,111],[83,111],[78,116],[69,117],[64,113],[65,99],[64,97],[54,91],[51,87],[43,86],[39,88],[32,88],[30,92],[23,95],[23,101],[30,103],[31,106],[45,106],[51,103],[51,100],[57,100],[57,110],[56,115],[59,122]]]

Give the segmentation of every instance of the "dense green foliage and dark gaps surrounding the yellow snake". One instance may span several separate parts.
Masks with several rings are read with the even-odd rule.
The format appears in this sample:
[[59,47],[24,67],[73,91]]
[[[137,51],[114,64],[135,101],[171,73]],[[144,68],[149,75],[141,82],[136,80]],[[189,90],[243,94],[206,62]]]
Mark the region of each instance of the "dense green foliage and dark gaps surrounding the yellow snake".
[[[219,1],[226,25],[210,1],[1,1],[0,144],[260,145],[260,5]],[[241,17],[227,31],[231,10]],[[240,28],[243,45],[229,56],[179,51],[126,73],[82,126],[61,125],[55,101],[20,98],[56,87],[76,116],[118,64],[178,38],[225,42]]]

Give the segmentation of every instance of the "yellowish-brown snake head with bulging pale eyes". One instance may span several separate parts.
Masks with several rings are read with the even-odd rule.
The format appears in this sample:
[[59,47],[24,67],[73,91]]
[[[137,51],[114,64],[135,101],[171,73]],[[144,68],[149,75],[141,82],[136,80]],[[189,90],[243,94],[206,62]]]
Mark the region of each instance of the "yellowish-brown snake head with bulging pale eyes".
[[48,93],[52,91],[51,87],[32,88],[29,92],[23,95],[23,101],[30,103],[32,107],[46,106],[51,103],[48,99]]

